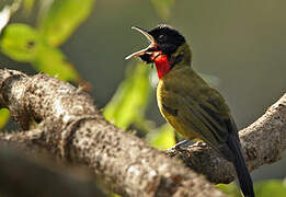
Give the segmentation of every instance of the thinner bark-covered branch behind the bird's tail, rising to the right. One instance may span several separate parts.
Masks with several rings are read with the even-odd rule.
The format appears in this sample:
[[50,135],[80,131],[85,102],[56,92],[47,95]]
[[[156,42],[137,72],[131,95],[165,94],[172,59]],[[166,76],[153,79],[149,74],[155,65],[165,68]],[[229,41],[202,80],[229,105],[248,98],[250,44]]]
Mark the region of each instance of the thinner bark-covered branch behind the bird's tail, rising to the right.
[[[278,161],[286,149],[286,94],[249,127],[239,131],[241,146],[252,171],[265,163]],[[236,172],[232,165],[206,146],[170,149],[170,157],[183,159],[185,164],[203,173],[214,183],[230,183]]]

